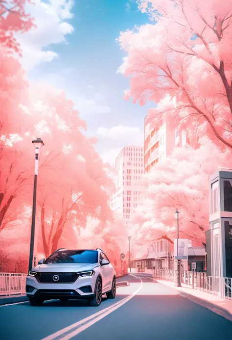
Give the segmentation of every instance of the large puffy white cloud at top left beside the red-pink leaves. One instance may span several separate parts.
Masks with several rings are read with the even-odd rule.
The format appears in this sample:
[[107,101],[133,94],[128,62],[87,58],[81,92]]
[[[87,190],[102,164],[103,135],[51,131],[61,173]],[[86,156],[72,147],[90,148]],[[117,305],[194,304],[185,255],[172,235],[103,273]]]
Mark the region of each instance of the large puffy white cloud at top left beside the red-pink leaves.
[[22,65],[26,70],[33,69],[42,62],[50,62],[58,57],[51,49],[52,44],[67,43],[65,37],[74,31],[67,20],[72,18],[70,12],[73,0],[34,0],[35,5],[28,4],[26,12],[35,18],[33,27],[28,32],[17,33],[23,58]]

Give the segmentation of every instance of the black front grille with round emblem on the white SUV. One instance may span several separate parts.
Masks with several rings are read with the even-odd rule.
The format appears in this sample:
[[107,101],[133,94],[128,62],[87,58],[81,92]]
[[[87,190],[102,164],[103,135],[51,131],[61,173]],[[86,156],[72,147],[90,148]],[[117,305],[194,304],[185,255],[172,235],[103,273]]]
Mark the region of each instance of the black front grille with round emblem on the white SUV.
[[77,273],[38,273],[36,279],[40,283],[74,283]]

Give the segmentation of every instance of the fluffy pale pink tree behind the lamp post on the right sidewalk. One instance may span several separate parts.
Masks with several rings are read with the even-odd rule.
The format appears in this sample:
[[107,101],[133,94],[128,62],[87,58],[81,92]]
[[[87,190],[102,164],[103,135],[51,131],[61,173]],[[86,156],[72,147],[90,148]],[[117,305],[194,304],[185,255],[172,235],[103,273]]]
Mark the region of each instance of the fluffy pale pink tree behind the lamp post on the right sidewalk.
[[135,228],[144,242],[167,235],[176,237],[174,212],[180,211],[180,237],[205,242],[209,229],[209,176],[221,166],[230,166],[231,152],[222,153],[209,140],[200,148],[177,149],[156,164],[144,182],[144,194],[135,216]]

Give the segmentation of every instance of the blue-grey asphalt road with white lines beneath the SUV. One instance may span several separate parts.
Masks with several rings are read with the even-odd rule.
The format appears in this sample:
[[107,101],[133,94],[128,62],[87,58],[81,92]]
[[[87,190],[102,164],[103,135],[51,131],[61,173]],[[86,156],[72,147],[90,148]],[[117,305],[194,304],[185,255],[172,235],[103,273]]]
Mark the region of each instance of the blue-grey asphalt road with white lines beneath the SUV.
[[133,274],[117,280],[114,300],[99,307],[86,301],[28,302],[0,306],[1,340],[229,340],[232,322],[210,312],[149,275]]

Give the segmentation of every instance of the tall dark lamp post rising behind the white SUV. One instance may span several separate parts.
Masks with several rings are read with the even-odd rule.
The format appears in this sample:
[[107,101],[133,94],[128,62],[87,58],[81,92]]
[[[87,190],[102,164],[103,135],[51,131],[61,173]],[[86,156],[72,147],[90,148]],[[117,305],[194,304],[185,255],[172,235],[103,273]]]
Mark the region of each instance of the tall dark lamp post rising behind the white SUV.
[[31,270],[33,266],[34,260],[34,244],[35,244],[35,213],[36,213],[36,188],[37,188],[37,175],[39,168],[39,153],[40,149],[44,145],[44,142],[41,138],[37,138],[32,140],[32,143],[35,148],[35,177],[34,177],[34,189],[33,189],[33,206],[32,206],[32,221],[31,221],[31,240],[30,240],[30,255],[29,255],[29,270]]

